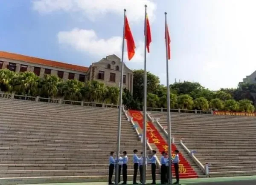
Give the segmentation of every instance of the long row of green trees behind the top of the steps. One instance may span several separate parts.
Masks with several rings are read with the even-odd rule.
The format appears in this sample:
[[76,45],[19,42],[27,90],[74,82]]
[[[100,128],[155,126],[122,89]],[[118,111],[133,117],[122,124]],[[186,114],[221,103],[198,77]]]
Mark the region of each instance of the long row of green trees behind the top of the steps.
[[[123,104],[128,108],[143,108],[143,70],[134,70],[133,94],[124,89]],[[169,86],[172,109],[221,111],[255,111],[256,84],[243,83],[237,88],[211,91],[200,83],[179,82]],[[118,104],[119,88],[98,81],[62,80],[54,75],[39,78],[33,72],[16,73],[0,70],[0,91],[28,96],[64,98],[65,100]],[[167,108],[167,88],[159,77],[147,72],[147,107]]]

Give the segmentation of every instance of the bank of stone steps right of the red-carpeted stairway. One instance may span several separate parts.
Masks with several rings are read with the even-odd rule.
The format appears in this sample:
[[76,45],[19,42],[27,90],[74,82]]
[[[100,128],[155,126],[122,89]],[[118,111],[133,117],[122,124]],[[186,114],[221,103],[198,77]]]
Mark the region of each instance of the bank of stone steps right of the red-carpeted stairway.
[[[167,126],[167,113],[151,112]],[[256,117],[171,113],[172,136],[182,138],[211,177],[256,175]]]

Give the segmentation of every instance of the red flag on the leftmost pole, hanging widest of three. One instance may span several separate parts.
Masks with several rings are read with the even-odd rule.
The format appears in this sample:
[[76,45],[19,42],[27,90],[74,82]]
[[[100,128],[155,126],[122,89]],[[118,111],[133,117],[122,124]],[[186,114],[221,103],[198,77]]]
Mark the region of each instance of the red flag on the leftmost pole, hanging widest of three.
[[127,52],[128,52],[128,59],[131,60],[131,58],[135,54],[135,43],[133,36],[131,34],[131,29],[128,23],[128,19],[125,16],[125,39],[126,39],[126,44],[127,44]]

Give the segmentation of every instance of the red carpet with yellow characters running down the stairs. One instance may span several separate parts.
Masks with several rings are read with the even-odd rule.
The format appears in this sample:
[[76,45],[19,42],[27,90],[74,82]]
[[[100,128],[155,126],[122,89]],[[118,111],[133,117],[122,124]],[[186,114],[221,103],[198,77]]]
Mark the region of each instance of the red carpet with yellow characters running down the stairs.
[[[140,111],[134,111],[129,110],[129,113],[131,117],[133,117],[134,122],[138,123],[138,126],[140,126],[141,129],[143,129],[143,114],[141,114]],[[147,138],[148,142],[151,144],[155,144],[158,149],[158,156],[160,156],[162,151],[168,151],[168,143],[163,139],[161,134],[157,131],[157,129],[154,127],[153,123],[148,121],[147,122]],[[172,144],[172,152],[175,151],[177,148],[175,144]],[[175,154],[172,153],[172,156],[174,157]],[[198,174],[193,170],[193,168],[189,165],[189,162],[183,157],[183,155],[180,153],[180,178],[197,178]],[[174,168],[172,168],[172,173],[174,173]]]

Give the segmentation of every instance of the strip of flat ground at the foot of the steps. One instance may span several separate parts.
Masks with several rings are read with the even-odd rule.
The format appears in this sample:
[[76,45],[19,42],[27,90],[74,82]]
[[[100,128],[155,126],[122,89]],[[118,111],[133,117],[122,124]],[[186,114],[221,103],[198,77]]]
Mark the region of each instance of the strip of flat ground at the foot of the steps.
[[[175,182],[175,179],[173,179]],[[132,182],[128,182],[132,183]],[[151,181],[148,181],[151,183]],[[158,181],[159,183],[159,181]],[[182,185],[256,185],[256,176],[181,179]],[[52,183],[36,185],[107,185],[107,182]]]

